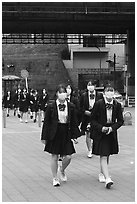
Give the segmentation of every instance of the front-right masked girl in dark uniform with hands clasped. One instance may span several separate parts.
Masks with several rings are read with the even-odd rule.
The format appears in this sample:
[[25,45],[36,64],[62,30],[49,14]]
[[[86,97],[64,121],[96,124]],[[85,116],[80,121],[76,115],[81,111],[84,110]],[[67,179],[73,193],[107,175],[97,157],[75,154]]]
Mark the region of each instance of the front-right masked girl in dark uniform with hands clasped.
[[92,153],[100,156],[99,181],[105,182],[108,189],[113,184],[108,170],[109,157],[118,154],[117,129],[124,122],[121,104],[113,97],[113,87],[106,87],[104,98],[95,103],[91,115],[94,136]]

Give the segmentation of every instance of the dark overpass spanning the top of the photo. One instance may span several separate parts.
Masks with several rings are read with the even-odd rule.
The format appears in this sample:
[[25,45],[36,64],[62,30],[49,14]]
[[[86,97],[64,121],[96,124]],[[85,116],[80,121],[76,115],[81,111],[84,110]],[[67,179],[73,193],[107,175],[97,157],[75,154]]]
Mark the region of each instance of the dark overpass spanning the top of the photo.
[[2,2],[2,33],[127,33],[135,2]]

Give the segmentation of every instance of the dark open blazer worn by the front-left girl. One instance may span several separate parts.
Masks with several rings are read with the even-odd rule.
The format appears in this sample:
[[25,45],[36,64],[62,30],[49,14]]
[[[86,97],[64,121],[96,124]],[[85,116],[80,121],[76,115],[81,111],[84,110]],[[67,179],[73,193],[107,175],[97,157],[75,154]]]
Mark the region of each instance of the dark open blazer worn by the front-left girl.
[[[68,105],[68,137],[74,139],[80,136],[80,131],[77,125],[75,106],[67,102]],[[45,119],[42,127],[41,140],[53,140],[58,127],[58,110],[56,101],[48,104]]]

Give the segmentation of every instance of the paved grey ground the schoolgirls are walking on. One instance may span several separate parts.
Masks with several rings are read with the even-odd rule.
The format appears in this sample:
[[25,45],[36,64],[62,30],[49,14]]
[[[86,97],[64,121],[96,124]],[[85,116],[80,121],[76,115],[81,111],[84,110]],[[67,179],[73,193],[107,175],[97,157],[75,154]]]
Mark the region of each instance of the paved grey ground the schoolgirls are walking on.
[[75,145],[68,181],[52,186],[50,154],[43,151],[41,128],[29,120],[20,123],[11,112],[2,128],[3,202],[135,202],[135,108],[132,125],[118,131],[120,152],[110,157],[114,185],[106,189],[98,182],[99,157],[87,158],[85,136]]

